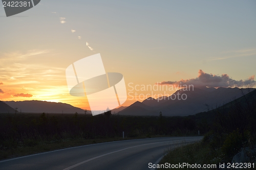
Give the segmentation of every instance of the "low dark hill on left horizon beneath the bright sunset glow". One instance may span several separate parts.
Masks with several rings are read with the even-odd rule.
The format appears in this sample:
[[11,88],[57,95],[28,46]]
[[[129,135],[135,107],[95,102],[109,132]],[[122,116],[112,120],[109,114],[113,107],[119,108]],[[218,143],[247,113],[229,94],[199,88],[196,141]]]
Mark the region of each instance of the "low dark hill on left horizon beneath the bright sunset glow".
[[[55,103],[46,101],[19,101],[19,102],[4,102],[12,108],[17,107],[18,111],[20,109],[25,113],[83,113],[84,110],[78,107],[74,107],[65,103]],[[13,109],[14,110],[14,109]],[[88,111],[87,114],[90,114]]]

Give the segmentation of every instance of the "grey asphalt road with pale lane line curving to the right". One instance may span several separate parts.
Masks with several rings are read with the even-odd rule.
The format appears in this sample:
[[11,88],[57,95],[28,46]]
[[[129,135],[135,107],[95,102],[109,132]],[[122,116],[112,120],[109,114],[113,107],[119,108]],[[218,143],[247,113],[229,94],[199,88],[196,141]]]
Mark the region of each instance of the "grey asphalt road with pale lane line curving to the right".
[[161,137],[97,143],[0,161],[0,169],[150,169],[169,148],[202,137]]

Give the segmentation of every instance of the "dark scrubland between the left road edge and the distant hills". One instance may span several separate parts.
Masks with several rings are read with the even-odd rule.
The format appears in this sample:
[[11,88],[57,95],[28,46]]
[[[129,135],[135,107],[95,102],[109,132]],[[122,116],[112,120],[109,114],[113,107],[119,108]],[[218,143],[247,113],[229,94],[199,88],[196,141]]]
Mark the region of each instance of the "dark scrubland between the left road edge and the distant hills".
[[[124,132],[125,138],[122,138]],[[198,125],[188,117],[86,114],[0,114],[0,159],[125,139],[191,136]]]

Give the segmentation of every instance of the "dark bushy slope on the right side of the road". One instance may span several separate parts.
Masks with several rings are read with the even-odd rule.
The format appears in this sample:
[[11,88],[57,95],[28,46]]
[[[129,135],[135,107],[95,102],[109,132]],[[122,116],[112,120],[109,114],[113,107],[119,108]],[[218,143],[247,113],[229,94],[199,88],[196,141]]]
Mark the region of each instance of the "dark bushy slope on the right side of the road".
[[[204,114],[214,114],[215,120],[203,140],[176,149],[170,148],[159,164],[227,165],[237,161],[256,164],[256,90]],[[240,155],[234,159],[238,153]]]

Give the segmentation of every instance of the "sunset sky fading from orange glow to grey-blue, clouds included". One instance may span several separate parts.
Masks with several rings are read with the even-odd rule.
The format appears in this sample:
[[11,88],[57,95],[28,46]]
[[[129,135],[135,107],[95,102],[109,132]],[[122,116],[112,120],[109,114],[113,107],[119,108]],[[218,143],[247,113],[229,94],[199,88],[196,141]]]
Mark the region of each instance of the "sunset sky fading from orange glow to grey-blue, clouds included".
[[157,83],[256,87],[256,1],[41,0],[10,17],[0,7],[0,26],[1,101],[88,109],[69,94],[65,70],[98,53],[127,92]]

